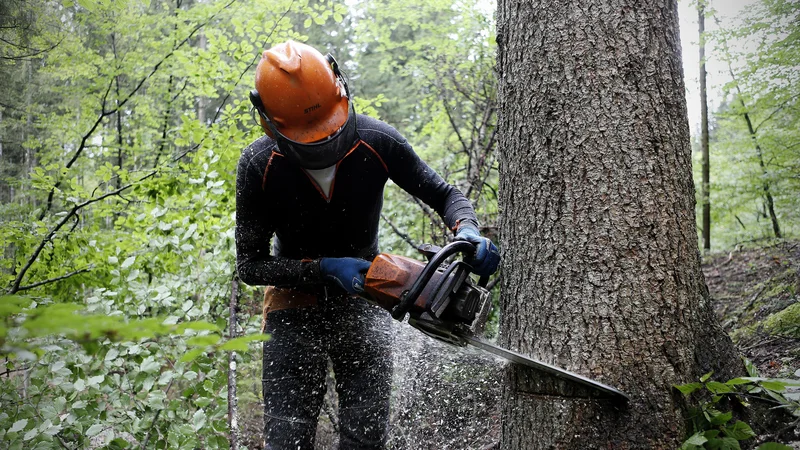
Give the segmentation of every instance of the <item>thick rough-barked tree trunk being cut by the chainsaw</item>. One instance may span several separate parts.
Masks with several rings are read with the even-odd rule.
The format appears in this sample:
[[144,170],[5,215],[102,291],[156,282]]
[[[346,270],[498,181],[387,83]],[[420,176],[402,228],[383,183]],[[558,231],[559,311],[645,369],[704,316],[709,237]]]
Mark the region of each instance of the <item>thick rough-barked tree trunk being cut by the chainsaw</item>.
[[501,447],[676,448],[672,389],[741,372],[710,308],[675,0],[498,3],[500,343],[631,396],[509,368]]

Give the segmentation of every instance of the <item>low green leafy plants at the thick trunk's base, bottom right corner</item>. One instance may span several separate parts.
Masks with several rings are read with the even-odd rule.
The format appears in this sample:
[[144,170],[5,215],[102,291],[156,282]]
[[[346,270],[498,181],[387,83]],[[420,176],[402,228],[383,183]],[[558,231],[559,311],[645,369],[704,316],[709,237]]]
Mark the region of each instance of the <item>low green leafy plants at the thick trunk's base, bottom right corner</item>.
[[[776,408],[800,417],[800,380],[762,378],[750,361],[745,365],[751,376],[739,377],[725,383],[711,380],[712,373],[703,375],[697,382],[676,385],[675,389],[685,396],[692,396],[697,406],[689,408],[690,432],[681,445],[682,450],[694,449],[739,449],[740,441],[755,437],[750,426],[734,420],[732,411],[722,411],[723,405],[731,401],[743,407],[749,406],[753,397],[775,403]],[[789,448],[769,442],[758,447],[761,450]]]

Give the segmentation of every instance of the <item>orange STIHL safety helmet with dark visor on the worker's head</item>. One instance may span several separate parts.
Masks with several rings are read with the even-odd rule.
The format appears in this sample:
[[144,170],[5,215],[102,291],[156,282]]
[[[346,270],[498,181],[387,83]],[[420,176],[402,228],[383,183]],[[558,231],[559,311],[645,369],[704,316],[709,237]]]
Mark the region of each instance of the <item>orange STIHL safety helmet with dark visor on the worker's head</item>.
[[294,41],[265,50],[250,101],[279,150],[306,169],[329,167],[357,140],[355,112],[336,60]]

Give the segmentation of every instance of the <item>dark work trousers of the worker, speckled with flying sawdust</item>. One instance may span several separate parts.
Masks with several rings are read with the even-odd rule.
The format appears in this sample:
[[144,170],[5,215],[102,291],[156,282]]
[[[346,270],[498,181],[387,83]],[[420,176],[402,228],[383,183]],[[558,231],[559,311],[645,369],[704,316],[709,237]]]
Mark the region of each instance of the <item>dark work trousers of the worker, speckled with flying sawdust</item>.
[[339,397],[339,448],[382,449],[389,422],[389,314],[360,298],[269,313],[264,342],[264,438],[270,450],[314,448],[328,359]]

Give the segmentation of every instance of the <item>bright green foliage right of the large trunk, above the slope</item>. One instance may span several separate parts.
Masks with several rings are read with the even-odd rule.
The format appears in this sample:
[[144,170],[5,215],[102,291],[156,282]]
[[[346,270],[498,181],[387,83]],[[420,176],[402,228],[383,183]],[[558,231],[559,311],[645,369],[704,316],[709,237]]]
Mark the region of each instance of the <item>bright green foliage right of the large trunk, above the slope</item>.
[[731,76],[710,130],[712,242],[720,248],[774,238],[773,222],[782,237],[800,233],[798,16],[797,2],[762,0],[709,36],[712,58]]

